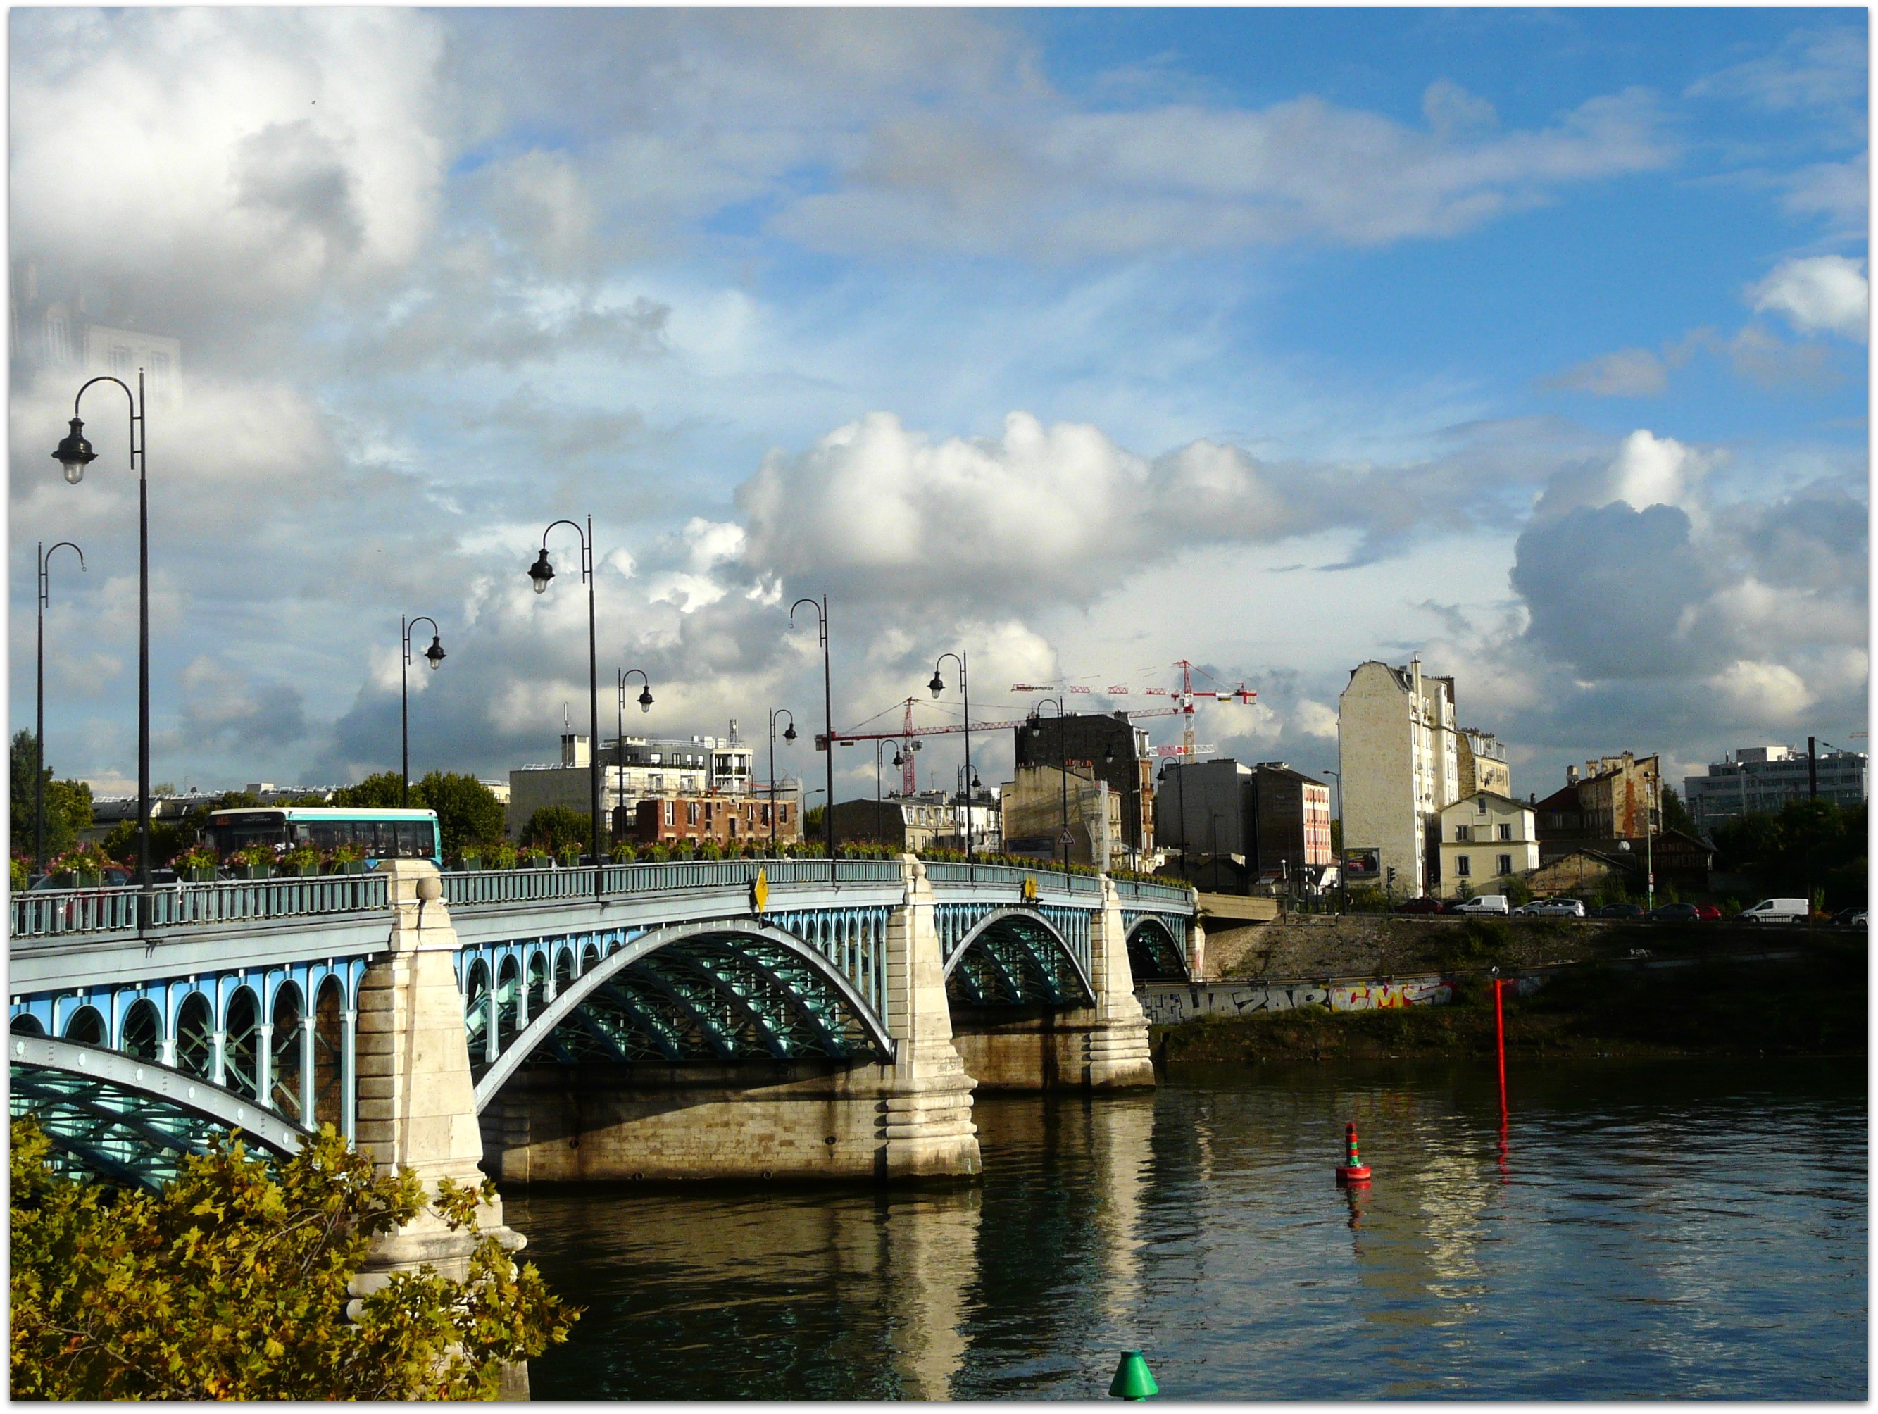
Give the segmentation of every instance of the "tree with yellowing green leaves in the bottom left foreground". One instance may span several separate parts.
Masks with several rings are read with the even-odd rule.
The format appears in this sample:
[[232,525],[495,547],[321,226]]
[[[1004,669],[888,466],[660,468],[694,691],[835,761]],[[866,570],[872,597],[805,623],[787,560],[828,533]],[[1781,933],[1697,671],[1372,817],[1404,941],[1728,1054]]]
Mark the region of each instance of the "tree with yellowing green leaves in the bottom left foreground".
[[[483,1236],[464,1281],[394,1273],[347,1320],[374,1236],[424,1198],[331,1125],[278,1164],[222,1142],[158,1192],[53,1174],[30,1119],[11,1142],[15,1399],[492,1399],[580,1314]],[[430,1207],[477,1232],[477,1198]]]

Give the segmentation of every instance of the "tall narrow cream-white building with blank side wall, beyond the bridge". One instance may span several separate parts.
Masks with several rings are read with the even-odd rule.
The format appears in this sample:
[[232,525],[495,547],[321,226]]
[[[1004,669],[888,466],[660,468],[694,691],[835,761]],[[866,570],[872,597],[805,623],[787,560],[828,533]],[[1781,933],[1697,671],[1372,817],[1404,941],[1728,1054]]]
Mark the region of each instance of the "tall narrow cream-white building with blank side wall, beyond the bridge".
[[1454,678],[1424,674],[1420,657],[1358,665],[1337,699],[1337,766],[1345,849],[1380,851],[1392,898],[1429,892],[1439,817],[1459,798]]

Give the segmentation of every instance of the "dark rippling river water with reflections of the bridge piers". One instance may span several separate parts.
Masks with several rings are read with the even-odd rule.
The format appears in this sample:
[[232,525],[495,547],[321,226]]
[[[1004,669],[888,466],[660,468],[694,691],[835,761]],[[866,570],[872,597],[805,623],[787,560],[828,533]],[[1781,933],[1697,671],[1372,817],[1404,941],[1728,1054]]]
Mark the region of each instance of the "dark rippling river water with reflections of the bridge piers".
[[[1863,1399],[1863,1063],[1176,1067],[980,1097],[982,1187],[515,1192],[537,1399]],[[1367,1192],[1333,1185],[1343,1123]]]

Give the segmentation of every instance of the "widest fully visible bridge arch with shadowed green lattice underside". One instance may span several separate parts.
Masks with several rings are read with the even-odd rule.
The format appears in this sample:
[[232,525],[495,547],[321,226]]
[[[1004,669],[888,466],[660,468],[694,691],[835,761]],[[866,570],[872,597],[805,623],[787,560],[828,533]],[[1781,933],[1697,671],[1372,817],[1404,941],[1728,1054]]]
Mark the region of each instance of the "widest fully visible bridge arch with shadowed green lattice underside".
[[[494,1061],[477,1067],[477,1112],[516,1070],[539,1059],[723,1065],[879,1063],[894,1055],[883,1020],[854,986],[828,958],[774,924],[678,924],[640,933],[607,956],[588,943],[580,956],[586,967],[569,976],[573,950],[556,948],[556,997],[539,1012],[530,1007],[528,1025],[513,1035],[503,1035],[513,995],[501,995],[501,988],[507,982],[518,993],[520,971],[500,975],[503,1044]],[[545,990],[546,978],[541,982]],[[470,997],[470,1005],[473,1018],[477,999]],[[471,1055],[477,1044],[471,1037]]]

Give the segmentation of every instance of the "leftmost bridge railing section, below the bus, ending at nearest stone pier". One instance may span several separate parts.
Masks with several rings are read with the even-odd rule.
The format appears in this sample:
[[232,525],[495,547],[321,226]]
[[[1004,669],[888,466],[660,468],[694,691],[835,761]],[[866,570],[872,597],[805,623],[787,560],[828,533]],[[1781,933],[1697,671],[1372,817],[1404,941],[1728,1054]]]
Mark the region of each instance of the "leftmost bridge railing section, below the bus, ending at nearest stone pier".
[[[317,879],[235,879],[210,884],[158,884],[148,926],[205,928],[225,922],[383,913],[385,875],[332,873]],[[137,931],[137,888],[43,888],[13,894],[11,939]]]

